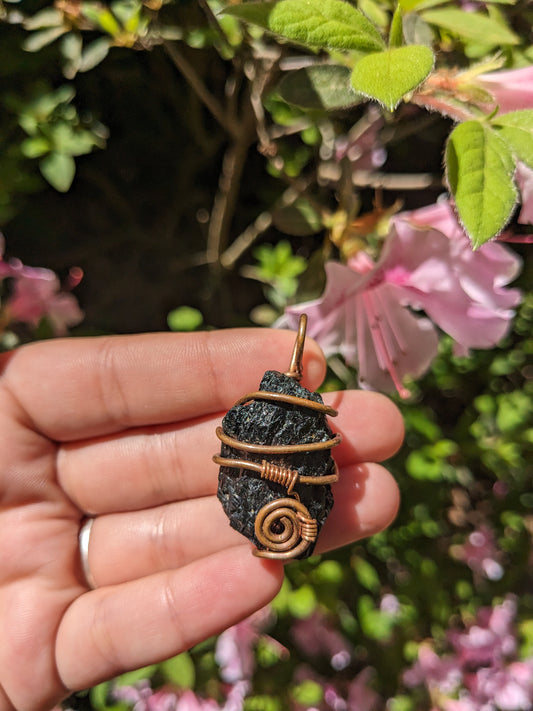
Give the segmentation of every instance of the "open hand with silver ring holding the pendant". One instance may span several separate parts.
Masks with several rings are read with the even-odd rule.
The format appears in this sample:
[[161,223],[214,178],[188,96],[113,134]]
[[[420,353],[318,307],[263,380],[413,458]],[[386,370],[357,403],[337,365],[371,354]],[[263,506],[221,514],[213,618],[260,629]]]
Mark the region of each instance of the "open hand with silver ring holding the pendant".
[[[156,662],[234,624],[277,593],[216,499],[215,427],[294,334],[261,329],[69,339],[0,356],[0,711],[46,710],[72,690]],[[310,340],[303,384],[324,360]],[[380,465],[402,439],[383,396],[347,391],[340,480],[317,551],[390,523]],[[96,516],[89,564],[78,532]]]

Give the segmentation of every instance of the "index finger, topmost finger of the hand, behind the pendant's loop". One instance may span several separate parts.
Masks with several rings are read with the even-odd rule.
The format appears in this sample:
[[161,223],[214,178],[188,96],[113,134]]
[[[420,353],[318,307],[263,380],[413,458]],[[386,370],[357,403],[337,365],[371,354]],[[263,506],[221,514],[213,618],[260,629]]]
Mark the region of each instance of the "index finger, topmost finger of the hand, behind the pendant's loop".
[[[231,407],[265,370],[287,370],[295,334],[228,329],[46,341],[15,351],[0,386],[25,424],[57,441],[165,424]],[[306,342],[304,384],[325,372]]]

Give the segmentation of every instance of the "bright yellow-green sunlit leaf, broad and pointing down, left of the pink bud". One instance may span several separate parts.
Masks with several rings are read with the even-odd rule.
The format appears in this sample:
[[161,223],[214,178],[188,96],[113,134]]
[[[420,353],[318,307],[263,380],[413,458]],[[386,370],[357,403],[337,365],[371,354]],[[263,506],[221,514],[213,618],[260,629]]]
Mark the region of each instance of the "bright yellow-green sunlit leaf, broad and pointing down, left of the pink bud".
[[393,111],[405,94],[424,81],[433,68],[433,60],[433,52],[422,45],[369,54],[355,65],[352,86]]

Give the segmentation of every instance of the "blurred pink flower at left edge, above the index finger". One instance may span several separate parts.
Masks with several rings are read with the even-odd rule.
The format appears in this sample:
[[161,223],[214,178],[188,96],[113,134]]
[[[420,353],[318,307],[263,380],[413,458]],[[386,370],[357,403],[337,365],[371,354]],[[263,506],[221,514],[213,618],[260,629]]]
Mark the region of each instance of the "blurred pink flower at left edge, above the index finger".
[[[6,262],[2,254],[3,239],[0,238],[0,280],[12,279],[11,294],[2,305],[10,321],[35,328],[46,317],[56,336],[64,335],[67,328],[82,321],[83,312],[76,297],[62,290],[53,271],[27,267],[17,259]],[[81,269],[71,269],[66,288],[74,288],[82,276]]]

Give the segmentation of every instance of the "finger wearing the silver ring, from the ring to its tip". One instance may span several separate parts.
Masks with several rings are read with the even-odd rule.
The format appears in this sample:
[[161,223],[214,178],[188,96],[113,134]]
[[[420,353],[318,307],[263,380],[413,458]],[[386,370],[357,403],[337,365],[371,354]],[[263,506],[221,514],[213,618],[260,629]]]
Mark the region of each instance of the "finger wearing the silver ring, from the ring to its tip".
[[[333,511],[317,543],[318,553],[372,535],[388,525],[398,505],[396,485],[378,464],[341,469]],[[145,511],[94,519],[88,564],[97,587],[181,568],[243,543],[215,496]]]

